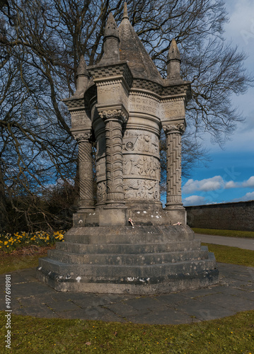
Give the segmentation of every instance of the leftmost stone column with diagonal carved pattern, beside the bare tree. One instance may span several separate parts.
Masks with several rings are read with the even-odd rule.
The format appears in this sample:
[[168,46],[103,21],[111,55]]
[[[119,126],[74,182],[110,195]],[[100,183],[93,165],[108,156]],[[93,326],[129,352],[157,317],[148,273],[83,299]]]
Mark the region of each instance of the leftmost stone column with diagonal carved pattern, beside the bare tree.
[[74,139],[79,144],[79,212],[89,212],[94,210],[91,131],[76,132]]

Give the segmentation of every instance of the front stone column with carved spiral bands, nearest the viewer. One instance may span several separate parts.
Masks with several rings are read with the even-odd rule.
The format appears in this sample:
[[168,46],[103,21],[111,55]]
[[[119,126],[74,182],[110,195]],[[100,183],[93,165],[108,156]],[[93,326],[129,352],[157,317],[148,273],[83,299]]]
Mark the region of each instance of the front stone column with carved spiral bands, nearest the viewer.
[[126,120],[123,110],[101,110],[105,122],[107,207],[124,207],[122,176],[122,123]]

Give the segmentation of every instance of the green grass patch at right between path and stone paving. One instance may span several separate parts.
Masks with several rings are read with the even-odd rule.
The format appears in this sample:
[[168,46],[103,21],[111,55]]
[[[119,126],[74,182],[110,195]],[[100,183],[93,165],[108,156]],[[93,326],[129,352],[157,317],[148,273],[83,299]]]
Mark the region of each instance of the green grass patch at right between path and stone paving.
[[214,253],[217,262],[246,265],[254,267],[254,251],[250,249],[238,249],[238,247],[222,246],[219,244],[203,244],[208,246],[210,252]]

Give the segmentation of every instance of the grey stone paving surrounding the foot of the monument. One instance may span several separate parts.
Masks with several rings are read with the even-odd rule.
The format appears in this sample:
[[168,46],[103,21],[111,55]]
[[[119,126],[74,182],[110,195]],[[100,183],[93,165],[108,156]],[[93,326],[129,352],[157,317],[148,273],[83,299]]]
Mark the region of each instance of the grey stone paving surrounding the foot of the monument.
[[[11,273],[13,314],[96,319],[135,324],[190,324],[254,309],[254,268],[219,263],[219,285],[164,295],[57,292],[35,278],[35,268]],[[0,310],[5,309],[0,275]]]

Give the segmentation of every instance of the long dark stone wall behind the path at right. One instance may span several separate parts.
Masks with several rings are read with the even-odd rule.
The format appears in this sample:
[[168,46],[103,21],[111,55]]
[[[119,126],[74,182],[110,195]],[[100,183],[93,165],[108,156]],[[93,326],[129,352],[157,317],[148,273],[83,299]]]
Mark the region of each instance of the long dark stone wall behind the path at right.
[[254,200],[198,205],[185,209],[190,227],[254,231]]

